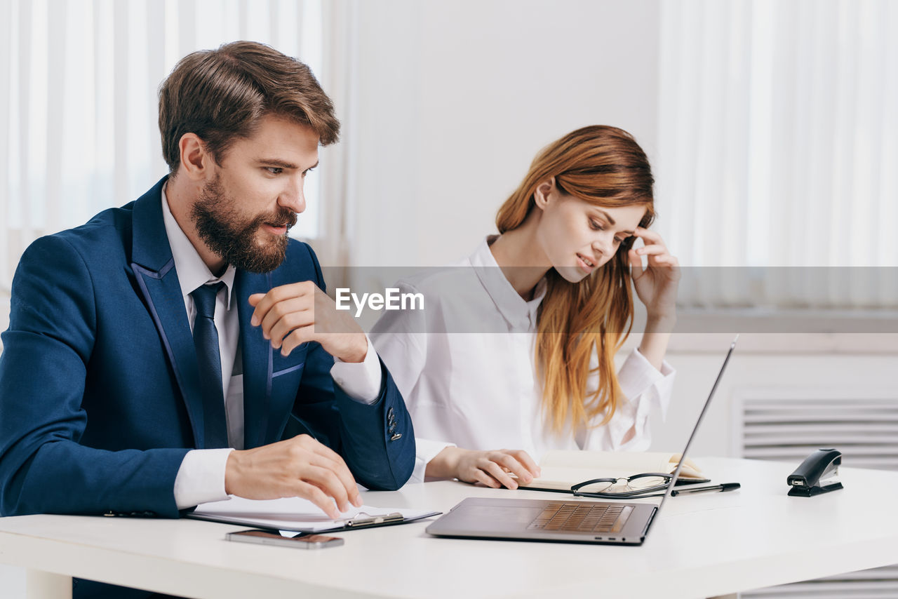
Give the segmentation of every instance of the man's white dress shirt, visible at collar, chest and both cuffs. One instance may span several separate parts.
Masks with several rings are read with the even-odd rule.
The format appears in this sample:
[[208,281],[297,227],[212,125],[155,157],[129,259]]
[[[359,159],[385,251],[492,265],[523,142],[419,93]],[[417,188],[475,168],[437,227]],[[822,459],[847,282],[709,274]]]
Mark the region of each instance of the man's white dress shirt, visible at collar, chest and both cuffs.
[[[225,420],[229,447],[224,449],[195,449],[189,451],[180,463],[174,481],[174,499],[178,509],[197,506],[207,501],[227,498],[225,493],[225,465],[234,449],[243,449],[243,374],[240,347],[240,319],[233,303],[233,280],[236,270],[228,265],[221,277],[216,277],[200,258],[198,251],[181,230],[172,216],[172,210],[162,193],[163,222],[169,245],[172,247],[174,268],[178,274],[184,308],[193,330],[196,308],[193,292],[198,286],[221,281],[225,286],[216,295],[216,313],[213,321],[218,331],[218,348],[222,361],[222,392],[225,398]],[[349,397],[363,403],[372,403],[380,395],[381,365],[376,352],[368,341],[365,360],[358,364],[334,358],[330,375]]]

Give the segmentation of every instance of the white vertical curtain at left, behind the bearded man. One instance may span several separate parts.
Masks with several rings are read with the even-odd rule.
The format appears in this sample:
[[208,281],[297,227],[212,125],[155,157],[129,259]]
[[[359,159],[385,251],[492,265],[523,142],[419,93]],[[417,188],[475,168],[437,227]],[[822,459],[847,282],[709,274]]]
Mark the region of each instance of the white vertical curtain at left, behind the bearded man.
[[[180,57],[254,40],[299,57],[321,79],[321,4],[0,2],[0,291],[8,293],[32,240],[125,204],[168,172],[156,91]],[[327,169],[322,161],[321,171]],[[306,183],[309,207],[296,236],[330,228],[321,226],[319,181],[313,174]]]

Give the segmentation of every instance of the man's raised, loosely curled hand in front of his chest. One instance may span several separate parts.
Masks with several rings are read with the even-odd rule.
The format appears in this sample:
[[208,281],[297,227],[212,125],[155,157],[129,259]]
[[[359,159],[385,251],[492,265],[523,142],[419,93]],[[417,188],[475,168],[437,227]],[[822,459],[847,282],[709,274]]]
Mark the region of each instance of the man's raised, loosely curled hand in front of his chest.
[[334,301],[312,281],[282,285],[267,294],[250,295],[252,326],[261,326],[271,346],[290,352],[306,341],[318,341],[331,356],[344,362],[362,362],[368,340],[348,312],[340,312]]

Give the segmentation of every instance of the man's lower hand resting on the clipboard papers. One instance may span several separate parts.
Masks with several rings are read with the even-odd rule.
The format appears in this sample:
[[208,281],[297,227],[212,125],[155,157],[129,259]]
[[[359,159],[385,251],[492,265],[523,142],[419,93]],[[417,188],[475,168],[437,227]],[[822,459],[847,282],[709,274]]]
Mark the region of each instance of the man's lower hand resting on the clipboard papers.
[[[225,465],[225,492],[247,499],[299,497],[333,519],[362,505],[343,458],[308,435],[233,451]],[[336,505],[335,505],[336,503]]]

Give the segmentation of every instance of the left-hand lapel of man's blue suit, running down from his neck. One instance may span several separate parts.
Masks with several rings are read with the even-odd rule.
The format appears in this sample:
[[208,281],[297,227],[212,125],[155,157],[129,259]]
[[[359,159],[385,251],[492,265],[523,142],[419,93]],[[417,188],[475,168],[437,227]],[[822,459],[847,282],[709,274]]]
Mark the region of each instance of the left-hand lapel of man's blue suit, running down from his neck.
[[174,268],[172,247],[165,234],[162,211],[164,182],[165,178],[134,203],[131,269],[172,365],[187,407],[195,445],[203,447],[203,399],[197,353]]

